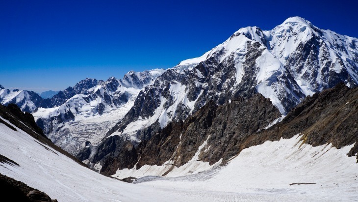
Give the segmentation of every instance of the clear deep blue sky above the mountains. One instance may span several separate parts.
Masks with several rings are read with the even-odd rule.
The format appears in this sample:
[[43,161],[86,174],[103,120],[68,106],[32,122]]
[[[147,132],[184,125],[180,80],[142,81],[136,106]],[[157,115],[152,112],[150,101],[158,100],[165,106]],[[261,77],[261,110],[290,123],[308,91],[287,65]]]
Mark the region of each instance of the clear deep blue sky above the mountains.
[[0,84],[37,92],[169,68],[291,16],[358,37],[355,0],[0,0]]

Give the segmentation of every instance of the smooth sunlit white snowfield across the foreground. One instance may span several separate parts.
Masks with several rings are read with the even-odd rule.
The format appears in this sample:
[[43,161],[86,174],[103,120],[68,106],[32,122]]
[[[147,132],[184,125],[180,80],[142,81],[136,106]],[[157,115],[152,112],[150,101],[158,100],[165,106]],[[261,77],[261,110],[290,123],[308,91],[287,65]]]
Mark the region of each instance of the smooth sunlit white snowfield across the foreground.
[[[0,173],[46,192],[59,202],[79,201],[337,201],[358,197],[358,164],[351,146],[312,147],[289,140],[244,149],[223,167],[181,177],[144,177],[125,183],[47,150],[0,123],[0,154],[20,167]],[[138,183],[139,182],[139,183]],[[292,185],[291,183],[316,183]]]

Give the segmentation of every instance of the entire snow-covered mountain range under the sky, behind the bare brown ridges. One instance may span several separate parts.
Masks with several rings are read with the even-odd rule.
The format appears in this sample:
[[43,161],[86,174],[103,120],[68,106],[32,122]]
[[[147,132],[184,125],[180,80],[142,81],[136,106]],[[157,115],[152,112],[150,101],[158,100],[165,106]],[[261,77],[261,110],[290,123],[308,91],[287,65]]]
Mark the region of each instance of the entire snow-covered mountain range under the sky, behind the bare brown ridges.
[[[90,145],[95,155],[101,153],[98,145],[108,141],[105,137],[119,138],[118,147],[126,141],[137,147],[210,100],[223,105],[259,93],[286,115],[307,95],[340,82],[357,86],[357,75],[357,38],[292,17],[272,30],[239,29],[203,56],[165,72],[131,71],[121,80],[86,79],[40,104],[30,96],[15,101],[23,110],[34,111],[55,144],[72,154]],[[0,92],[5,105],[14,100],[10,92]]]

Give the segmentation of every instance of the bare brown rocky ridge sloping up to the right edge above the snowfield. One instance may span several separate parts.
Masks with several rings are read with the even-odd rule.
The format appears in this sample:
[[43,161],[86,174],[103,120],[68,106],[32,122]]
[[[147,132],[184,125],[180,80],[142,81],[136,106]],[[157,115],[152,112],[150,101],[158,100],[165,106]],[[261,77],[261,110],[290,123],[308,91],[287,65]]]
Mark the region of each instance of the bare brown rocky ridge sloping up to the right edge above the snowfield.
[[[291,138],[302,134],[301,140],[312,146],[332,143],[336,148],[355,144],[348,156],[358,153],[358,87],[343,83],[308,96],[280,123],[247,139],[240,150],[263,142]],[[358,156],[357,156],[358,158]]]

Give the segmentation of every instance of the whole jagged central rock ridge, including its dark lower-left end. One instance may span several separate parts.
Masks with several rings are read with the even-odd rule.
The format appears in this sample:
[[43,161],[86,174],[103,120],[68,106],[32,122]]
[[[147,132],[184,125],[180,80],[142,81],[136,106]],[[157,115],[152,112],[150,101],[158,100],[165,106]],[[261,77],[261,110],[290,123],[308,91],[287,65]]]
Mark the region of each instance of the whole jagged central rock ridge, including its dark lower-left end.
[[[174,166],[181,166],[194,156],[208,136],[210,138],[207,143],[212,145],[213,149],[210,149],[211,153],[203,157],[203,160],[214,163],[224,156],[230,158],[237,153],[228,148],[234,131],[240,131],[236,136],[245,137],[264,128],[280,116],[280,112],[271,104],[271,101],[260,94],[249,99],[238,98],[222,106],[209,101],[184,122],[169,123],[150,140],[141,142],[137,148],[128,146],[130,142],[123,141],[119,136],[107,138],[99,145],[92,163],[103,162],[101,172],[108,174],[114,174],[118,168],[133,168],[137,159],[139,159],[137,169],[145,164],[159,166],[169,159],[174,160]],[[116,140],[116,145],[111,144],[112,149],[107,150],[110,148],[107,143],[112,143],[114,140]],[[124,142],[126,146],[121,145]],[[135,152],[135,155],[129,159],[130,161],[128,157],[127,161],[122,161],[123,153],[118,152],[121,149],[126,150],[127,153],[128,151]],[[102,154],[103,150],[106,152]],[[113,164],[114,161],[115,164]]]

